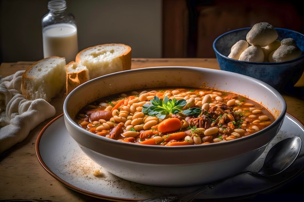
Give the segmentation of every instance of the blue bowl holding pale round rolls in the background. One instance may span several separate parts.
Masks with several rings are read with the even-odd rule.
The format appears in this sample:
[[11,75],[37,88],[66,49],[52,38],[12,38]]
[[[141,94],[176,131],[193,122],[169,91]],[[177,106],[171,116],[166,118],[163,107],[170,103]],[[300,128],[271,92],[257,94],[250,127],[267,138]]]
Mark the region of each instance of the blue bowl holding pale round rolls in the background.
[[[304,52],[304,34],[283,28],[275,28],[278,40],[293,38],[297,46]],[[281,93],[293,91],[294,84],[304,72],[304,55],[286,62],[245,62],[230,59],[227,56],[231,47],[239,40],[246,40],[251,28],[228,31],[213,42],[217,60],[221,70],[236,72],[264,81]]]

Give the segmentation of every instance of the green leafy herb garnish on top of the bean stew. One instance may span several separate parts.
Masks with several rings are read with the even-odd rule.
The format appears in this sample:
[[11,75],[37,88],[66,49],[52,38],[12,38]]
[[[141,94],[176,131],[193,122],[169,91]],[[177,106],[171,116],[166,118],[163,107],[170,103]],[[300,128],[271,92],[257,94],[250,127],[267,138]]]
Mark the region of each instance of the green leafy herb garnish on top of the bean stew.
[[190,108],[183,110],[187,102],[185,99],[176,100],[176,98],[169,99],[167,96],[164,99],[154,96],[154,99],[150,100],[150,104],[144,104],[141,110],[144,114],[150,116],[156,116],[159,119],[164,119],[170,113],[178,114],[183,113],[186,116],[198,116],[202,110],[198,108]]

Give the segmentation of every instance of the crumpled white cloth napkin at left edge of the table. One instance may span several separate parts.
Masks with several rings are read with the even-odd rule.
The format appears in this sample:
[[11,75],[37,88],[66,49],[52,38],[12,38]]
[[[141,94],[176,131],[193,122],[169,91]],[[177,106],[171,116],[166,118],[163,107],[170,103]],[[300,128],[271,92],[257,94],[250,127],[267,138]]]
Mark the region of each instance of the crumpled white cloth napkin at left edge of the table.
[[0,153],[23,141],[34,127],[56,112],[44,99],[25,99],[21,93],[23,72],[0,76]]

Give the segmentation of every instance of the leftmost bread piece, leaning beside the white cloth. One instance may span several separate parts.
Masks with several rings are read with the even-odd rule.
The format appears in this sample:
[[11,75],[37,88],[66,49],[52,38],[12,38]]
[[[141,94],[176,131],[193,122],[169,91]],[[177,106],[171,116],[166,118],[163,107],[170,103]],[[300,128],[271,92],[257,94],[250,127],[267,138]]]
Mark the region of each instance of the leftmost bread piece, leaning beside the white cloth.
[[53,56],[35,62],[21,77],[21,92],[28,100],[50,102],[66,84],[66,59]]

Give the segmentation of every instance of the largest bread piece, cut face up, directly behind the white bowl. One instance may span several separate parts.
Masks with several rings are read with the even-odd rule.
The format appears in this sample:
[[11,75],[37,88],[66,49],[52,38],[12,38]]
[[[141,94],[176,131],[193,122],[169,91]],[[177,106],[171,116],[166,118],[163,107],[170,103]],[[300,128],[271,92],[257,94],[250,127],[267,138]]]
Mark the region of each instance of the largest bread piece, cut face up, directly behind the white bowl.
[[131,47],[125,44],[102,44],[88,47],[76,55],[75,62],[86,66],[89,78],[131,68]]

